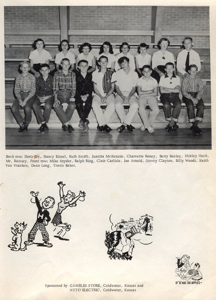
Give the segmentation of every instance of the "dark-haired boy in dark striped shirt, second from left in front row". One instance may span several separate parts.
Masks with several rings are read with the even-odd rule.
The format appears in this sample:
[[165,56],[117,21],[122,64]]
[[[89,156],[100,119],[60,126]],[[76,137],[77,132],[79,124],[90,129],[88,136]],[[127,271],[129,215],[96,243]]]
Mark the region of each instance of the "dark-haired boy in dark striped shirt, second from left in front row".
[[[50,113],[54,103],[52,89],[53,77],[49,75],[49,72],[49,64],[41,64],[40,73],[42,74],[42,76],[39,76],[36,79],[36,95],[35,101],[32,106],[38,124],[41,124],[41,127],[38,129],[38,132],[42,134],[49,130],[46,123],[49,122]],[[45,103],[43,115],[40,107],[41,103]]]

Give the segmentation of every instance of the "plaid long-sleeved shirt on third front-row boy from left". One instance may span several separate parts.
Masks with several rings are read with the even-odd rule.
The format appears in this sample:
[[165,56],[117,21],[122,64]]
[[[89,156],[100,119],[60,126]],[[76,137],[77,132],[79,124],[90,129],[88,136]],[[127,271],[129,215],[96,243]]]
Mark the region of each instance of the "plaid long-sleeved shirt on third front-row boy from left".
[[62,70],[55,72],[53,77],[53,92],[58,93],[58,89],[70,90],[71,96],[76,93],[76,75],[74,72],[68,70],[67,75]]

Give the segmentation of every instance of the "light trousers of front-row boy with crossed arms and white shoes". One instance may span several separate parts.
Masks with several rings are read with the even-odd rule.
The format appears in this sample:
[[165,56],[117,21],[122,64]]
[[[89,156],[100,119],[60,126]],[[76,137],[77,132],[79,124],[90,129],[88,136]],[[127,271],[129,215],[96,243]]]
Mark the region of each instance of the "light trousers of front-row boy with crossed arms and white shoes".
[[[141,120],[143,121],[143,125],[146,128],[153,126],[156,117],[159,114],[159,107],[157,97],[154,96],[140,96],[138,98],[139,104],[139,115]],[[150,113],[149,116],[146,114],[146,106],[149,105]]]

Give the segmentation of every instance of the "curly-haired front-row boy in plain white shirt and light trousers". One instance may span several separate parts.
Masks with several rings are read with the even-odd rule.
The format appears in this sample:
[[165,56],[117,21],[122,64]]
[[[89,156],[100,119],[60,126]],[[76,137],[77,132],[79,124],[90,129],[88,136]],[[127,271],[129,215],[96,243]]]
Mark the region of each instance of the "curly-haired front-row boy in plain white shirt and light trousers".
[[[119,58],[118,63],[121,65],[122,69],[113,74],[112,82],[115,82],[116,88],[116,113],[122,123],[120,127],[117,128],[118,132],[128,128],[128,131],[133,131],[135,129],[131,125],[131,121],[138,109],[138,101],[134,95],[136,91],[136,85],[138,80],[138,75],[134,70],[130,70],[129,58],[123,56]],[[130,105],[127,116],[124,111],[124,104]]]

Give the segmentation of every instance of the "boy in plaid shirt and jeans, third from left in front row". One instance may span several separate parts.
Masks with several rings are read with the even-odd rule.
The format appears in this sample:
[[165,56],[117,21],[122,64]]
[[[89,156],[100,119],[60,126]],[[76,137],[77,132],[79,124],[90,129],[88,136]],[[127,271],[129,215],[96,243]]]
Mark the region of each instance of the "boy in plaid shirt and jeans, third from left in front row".
[[[69,70],[70,60],[68,58],[62,59],[61,67],[62,70],[55,72],[53,78],[53,108],[62,123],[62,130],[71,133],[74,131],[70,119],[75,110],[76,75]],[[65,112],[62,107],[63,103],[68,105]]]

